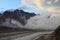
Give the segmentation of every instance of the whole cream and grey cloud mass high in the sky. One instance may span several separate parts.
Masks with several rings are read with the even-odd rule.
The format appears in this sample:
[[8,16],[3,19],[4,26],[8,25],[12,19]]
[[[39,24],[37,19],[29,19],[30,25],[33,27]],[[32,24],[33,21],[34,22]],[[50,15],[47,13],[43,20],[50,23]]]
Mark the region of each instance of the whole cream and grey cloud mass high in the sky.
[[[60,12],[60,0],[22,0],[22,5],[49,12]],[[58,9],[59,8],[59,9]]]

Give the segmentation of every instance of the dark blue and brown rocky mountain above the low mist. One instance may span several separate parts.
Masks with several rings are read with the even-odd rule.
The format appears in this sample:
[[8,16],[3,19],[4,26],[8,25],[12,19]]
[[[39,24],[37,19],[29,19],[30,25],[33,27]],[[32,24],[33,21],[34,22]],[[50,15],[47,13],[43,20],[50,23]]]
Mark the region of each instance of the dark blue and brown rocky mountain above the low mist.
[[28,13],[18,9],[14,11],[6,10],[3,12],[2,16],[0,16],[0,22],[5,21],[7,18],[10,18],[19,21],[22,25],[25,25],[25,20],[28,20],[30,17],[33,17],[35,15],[35,13]]

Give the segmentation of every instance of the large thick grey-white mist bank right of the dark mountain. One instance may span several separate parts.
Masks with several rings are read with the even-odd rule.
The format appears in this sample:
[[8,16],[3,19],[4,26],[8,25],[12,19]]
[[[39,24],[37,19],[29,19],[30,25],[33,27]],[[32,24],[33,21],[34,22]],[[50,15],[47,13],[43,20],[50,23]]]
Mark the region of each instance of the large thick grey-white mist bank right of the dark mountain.
[[55,14],[50,15],[36,15],[28,20],[25,25],[27,29],[40,29],[40,30],[55,30],[60,25],[60,14],[56,16]]

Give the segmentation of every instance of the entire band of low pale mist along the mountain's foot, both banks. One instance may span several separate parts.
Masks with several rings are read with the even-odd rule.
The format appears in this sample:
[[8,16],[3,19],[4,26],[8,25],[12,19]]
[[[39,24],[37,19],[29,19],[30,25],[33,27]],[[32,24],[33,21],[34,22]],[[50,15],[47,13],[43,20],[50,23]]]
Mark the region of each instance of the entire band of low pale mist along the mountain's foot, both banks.
[[[60,25],[60,13],[41,13],[30,19],[26,20],[27,23],[23,26],[19,21],[12,19],[6,19],[3,26],[13,28],[25,28],[25,29],[40,29],[40,30],[55,30]],[[1,25],[1,24],[0,24]]]

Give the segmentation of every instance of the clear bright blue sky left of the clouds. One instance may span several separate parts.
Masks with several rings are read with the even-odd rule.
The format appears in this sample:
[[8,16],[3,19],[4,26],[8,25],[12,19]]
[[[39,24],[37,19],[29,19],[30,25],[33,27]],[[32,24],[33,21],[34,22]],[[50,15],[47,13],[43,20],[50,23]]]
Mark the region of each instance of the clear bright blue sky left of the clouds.
[[0,11],[17,9],[20,7],[21,0],[0,0]]

